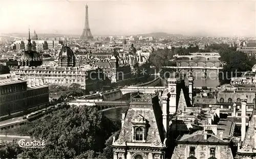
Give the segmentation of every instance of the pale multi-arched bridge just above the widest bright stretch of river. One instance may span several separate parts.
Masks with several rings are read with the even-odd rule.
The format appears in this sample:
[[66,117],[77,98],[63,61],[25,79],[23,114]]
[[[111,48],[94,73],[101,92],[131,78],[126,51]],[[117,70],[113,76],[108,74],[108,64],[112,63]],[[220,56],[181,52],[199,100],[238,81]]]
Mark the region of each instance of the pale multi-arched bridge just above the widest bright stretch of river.
[[198,66],[203,65],[203,67],[223,67],[223,63],[219,60],[214,61],[197,61],[197,60],[176,60],[177,66]]

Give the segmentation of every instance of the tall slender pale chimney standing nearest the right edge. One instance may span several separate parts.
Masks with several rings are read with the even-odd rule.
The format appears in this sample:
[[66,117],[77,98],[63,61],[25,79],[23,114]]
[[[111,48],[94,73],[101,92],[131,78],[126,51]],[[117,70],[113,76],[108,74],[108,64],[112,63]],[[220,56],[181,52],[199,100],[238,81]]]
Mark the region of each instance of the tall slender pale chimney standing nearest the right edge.
[[244,141],[245,133],[246,133],[246,102],[247,97],[244,95],[241,97],[241,118],[242,118],[242,127],[241,127],[241,141]]

